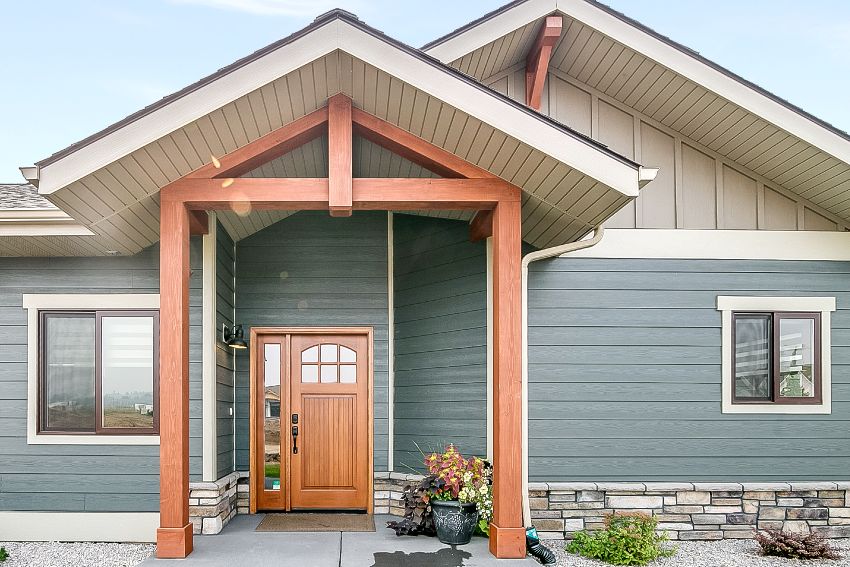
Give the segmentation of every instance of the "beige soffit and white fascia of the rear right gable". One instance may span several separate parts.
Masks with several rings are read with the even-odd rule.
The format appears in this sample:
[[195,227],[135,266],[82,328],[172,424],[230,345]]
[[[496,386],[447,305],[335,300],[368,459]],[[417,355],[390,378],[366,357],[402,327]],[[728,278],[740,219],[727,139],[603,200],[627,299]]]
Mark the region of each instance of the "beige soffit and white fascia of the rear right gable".
[[550,69],[850,220],[847,133],[598,2],[514,2],[424,49],[487,79],[524,66],[551,13],[564,26]]

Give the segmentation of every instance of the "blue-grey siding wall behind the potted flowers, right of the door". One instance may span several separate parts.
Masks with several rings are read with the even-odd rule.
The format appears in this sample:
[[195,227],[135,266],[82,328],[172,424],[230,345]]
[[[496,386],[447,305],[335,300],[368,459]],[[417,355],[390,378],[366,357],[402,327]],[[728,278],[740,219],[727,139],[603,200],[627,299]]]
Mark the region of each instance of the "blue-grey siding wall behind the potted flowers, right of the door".
[[[487,256],[465,222],[393,215],[394,468],[487,454]],[[418,448],[417,448],[418,445]]]

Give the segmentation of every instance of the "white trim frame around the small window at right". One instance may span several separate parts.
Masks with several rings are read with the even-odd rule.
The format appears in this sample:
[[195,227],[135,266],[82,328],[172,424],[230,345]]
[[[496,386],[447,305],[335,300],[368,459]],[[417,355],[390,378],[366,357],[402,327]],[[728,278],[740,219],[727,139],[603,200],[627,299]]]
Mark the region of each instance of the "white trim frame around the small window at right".
[[[722,335],[722,412],[750,414],[830,414],[832,413],[832,344],[830,313],[834,297],[743,297],[717,296]],[[732,403],[732,313],[735,311],[790,311],[821,314],[821,403],[816,405],[733,404]]]

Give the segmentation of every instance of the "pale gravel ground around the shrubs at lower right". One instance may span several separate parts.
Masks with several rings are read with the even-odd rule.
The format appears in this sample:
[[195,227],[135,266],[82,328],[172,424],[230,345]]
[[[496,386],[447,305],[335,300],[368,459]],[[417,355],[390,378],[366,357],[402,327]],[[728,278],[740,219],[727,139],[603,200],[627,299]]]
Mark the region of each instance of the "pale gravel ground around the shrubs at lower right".
[[[850,567],[850,540],[833,540],[832,548],[841,555],[839,560],[799,561],[780,557],[762,557],[758,544],[746,539],[723,541],[674,542],[678,548],[672,557],[650,563],[652,567]],[[607,563],[586,559],[564,551],[563,542],[547,542],[558,555],[558,567],[609,567]]]

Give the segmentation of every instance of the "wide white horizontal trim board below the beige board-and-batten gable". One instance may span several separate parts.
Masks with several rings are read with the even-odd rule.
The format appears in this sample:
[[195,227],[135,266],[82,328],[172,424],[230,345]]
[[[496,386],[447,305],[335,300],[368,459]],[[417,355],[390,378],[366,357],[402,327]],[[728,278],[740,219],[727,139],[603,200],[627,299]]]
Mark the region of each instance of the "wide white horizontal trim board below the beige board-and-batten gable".
[[850,232],[615,228],[564,257],[850,261]]

